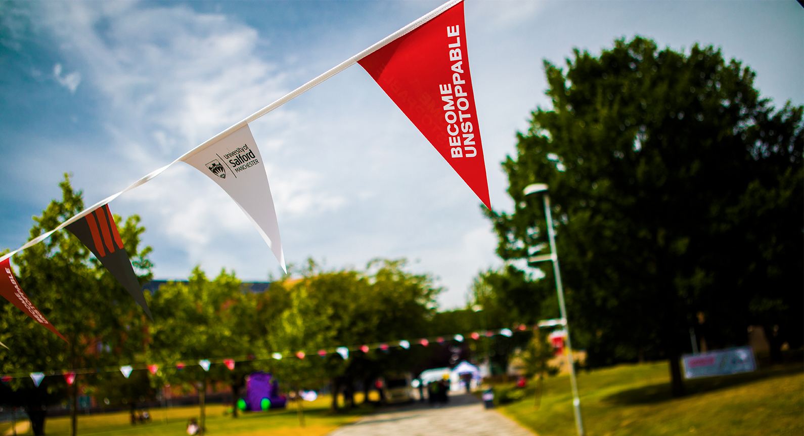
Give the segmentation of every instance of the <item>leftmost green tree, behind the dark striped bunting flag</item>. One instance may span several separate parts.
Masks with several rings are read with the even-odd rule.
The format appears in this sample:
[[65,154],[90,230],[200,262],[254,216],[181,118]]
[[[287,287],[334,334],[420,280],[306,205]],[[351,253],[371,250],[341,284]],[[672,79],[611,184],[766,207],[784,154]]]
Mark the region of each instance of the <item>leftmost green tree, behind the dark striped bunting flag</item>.
[[[59,183],[62,198],[54,199],[35,216],[31,239],[55,228],[84,209],[81,191],[74,191],[68,175]],[[133,265],[144,282],[152,267],[147,256],[150,247],[140,247],[145,231],[138,216],[125,223],[115,216],[121,239]],[[0,349],[0,372],[40,372],[51,369],[97,368],[117,364],[144,352],[142,310],[128,292],[92,257],[92,253],[71,233],[55,232],[47,241],[34,245],[14,257],[19,284],[43,315],[68,339],[28,319],[9,302],[0,302],[0,340],[10,348]],[[92,387],[96,378],[79,376],[71,387],[61,376],[45,377],[35,388],[30,379],[15,379],[0,395],[0,401],[25,407],[35,434],[44,434],[47,405],[72,399],[72,434],[77,431],[79,385]],[[16,403],[16,404],[15,404]]]

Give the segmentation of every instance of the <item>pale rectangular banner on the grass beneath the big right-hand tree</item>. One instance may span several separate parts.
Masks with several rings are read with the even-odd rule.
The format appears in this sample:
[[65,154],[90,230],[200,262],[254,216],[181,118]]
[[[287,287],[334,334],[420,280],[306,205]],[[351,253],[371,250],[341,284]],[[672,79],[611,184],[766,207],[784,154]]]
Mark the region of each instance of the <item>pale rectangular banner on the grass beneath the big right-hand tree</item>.
[[756,371],[753,348],[740,347],[699,354],[685,354],[682,357],[685,378],[728,376],[737,372]]

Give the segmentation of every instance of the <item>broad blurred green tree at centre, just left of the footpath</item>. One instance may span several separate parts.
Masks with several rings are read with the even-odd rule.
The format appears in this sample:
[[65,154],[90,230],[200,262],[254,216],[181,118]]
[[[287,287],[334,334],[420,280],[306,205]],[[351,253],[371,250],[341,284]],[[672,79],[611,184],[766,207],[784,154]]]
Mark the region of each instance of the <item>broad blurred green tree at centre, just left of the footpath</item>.
[[[293,304],[282,315],[281,326],[272,336],[273,349],[315,350],[426,335],[435,311],[435,297],[441,289],[433,286],[428,274],[409,273],[405,265],[404,260],[378,259],[369,262],[365,271],[325,271],[314,261],[308,261],[301,270],[301,280],[274,285],[285,287]],[[384,372],[409,370],[415,357],[420,356],[418,348],[420,345],[408,351],[353,351],[345,361],[333,354],[315,365],[305,362],[302,366],[309,367],[313,378],[323,382],[326,376],[330,380],[334,393],[332,408],[338,409],[337,393],[341,389],[347,404],[353,405],[357,381],[362,381],[367,389]],[[283,360],[282,364],[293,364],[293,360],[287,363]],[[277,366],[277,369],[296,376],[289,367]]]

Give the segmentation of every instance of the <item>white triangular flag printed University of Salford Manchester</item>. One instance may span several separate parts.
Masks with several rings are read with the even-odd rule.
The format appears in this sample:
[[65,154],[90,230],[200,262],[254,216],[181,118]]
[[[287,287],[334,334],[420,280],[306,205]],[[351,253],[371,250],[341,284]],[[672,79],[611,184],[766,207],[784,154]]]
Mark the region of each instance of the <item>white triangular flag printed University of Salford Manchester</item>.
[[224,188],[260,232],[282,269],[287,272],[265,162],[248,124],[182,160]]

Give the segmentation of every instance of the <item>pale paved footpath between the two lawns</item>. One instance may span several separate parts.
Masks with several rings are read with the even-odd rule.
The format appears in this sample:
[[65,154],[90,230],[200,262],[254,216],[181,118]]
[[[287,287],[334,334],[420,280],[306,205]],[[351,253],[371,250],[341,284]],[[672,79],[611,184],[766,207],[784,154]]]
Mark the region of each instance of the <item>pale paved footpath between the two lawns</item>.
[[511,418],[468,395],[449,397],[447,405],[431,407],[423,403],[379,409],[357,422],[339,427],[327,436],[533,436]]

